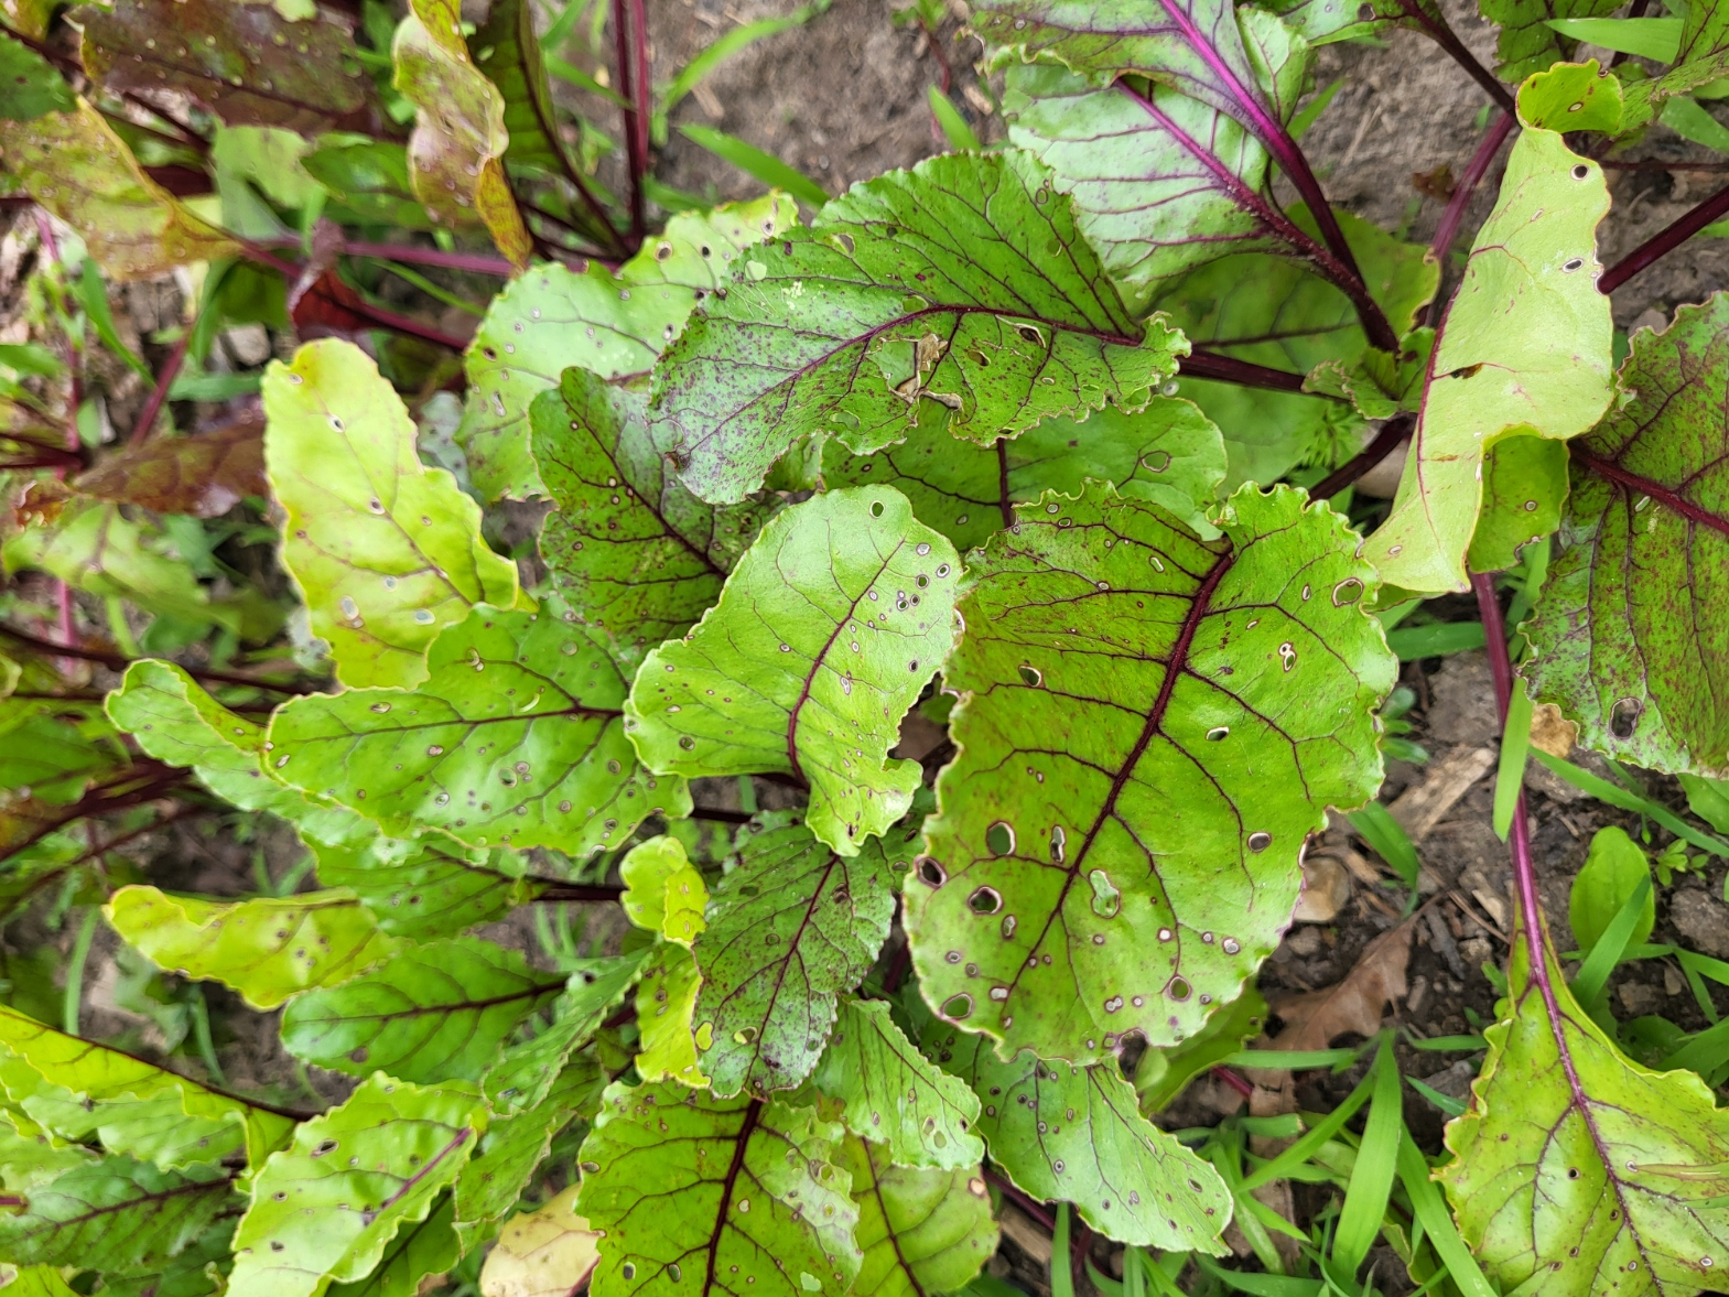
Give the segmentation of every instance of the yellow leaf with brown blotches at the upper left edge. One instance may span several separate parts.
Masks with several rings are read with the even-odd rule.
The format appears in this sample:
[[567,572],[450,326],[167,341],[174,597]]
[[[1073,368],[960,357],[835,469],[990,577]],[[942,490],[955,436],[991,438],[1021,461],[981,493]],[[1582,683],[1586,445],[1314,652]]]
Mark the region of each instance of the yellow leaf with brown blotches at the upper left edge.
[[21,188],[83,235],[109,278],[154,278],[239,252],[150,180],[83,99],[71,112],[9,126],[5,163]]

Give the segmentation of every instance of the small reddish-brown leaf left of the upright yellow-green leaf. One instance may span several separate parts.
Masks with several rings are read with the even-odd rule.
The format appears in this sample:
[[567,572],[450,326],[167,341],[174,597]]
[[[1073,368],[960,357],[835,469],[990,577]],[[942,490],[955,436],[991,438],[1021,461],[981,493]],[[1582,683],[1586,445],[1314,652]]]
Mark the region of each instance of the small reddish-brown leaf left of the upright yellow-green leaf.
[[154,438],[111,455],[76,477],[73,486],[99,500],[140,505],[157,514],[220,517],[246,496],[270,491],[263,432],[261,418],[240,418],[214,432]]

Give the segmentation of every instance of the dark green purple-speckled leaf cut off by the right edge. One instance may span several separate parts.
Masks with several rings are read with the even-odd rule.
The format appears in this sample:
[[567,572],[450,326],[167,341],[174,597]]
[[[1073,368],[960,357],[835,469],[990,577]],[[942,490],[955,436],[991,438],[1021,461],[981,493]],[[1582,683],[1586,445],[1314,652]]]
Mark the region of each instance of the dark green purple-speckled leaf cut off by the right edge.
[[1580,742],[1729,776],[1729,294],[1634,334],[1627,399],[1575,441],[1535,616],[1535,693]]

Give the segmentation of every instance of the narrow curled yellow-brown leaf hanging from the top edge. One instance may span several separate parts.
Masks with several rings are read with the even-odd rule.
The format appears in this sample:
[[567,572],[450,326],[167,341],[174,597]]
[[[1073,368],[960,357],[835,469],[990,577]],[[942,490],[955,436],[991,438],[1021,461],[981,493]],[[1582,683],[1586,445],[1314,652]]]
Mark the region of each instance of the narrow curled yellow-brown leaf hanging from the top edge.
[[484,225],[498,251],[519,268],[534,242],[505,178],[505,100],[469,55],[462,5],[410,0],[391,43],[392,85],[415,105],[408,178],[441,227]]

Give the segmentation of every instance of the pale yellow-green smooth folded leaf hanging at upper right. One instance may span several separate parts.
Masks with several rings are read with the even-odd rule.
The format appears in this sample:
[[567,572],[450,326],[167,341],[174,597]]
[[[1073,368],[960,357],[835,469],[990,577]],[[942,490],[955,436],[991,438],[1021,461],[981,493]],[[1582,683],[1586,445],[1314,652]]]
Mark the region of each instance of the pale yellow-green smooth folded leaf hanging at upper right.
[[1596,259],[1608,204],[1601,168],[1560,135],[1518,137],[1430,356],[1392,515],[1366,541],[1383,581],[1466,590],[1489,448],[1577,436],[1608,406],[1613,325]]

